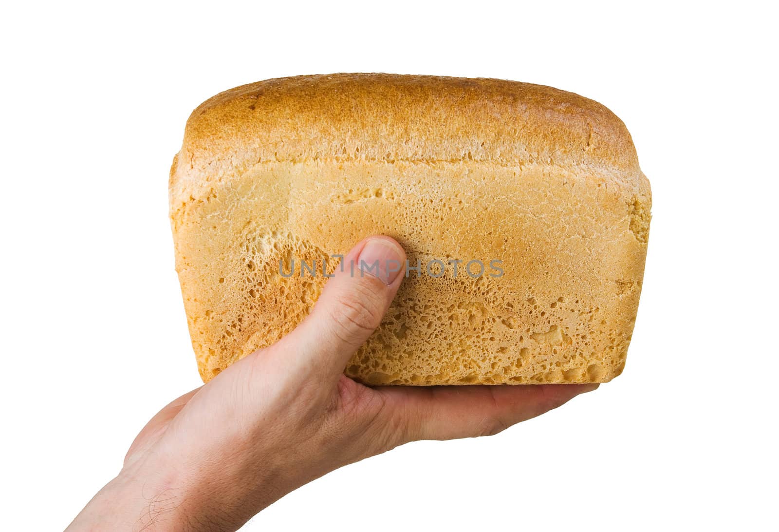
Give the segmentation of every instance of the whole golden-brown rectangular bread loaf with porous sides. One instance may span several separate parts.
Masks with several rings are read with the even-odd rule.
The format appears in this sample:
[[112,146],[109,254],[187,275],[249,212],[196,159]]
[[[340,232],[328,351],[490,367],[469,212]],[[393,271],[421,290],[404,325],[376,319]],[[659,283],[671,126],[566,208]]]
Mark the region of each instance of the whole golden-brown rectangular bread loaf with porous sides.
[[411,264],[499,259],[504,275],[412,272],[348,376],[604,382],[625,365],[650,186],[622,121],[576,94],[389,74],[252,83],[192,112],[170,202],[203,381],[308,314],[326,278],[284,278],[280,260],[321,264],[377,234]]

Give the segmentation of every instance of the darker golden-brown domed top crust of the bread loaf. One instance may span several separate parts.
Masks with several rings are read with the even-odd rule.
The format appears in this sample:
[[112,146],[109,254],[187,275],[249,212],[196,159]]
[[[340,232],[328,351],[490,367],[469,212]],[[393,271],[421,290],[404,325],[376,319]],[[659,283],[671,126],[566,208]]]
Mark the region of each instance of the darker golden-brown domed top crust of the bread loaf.
[[250,83],[196,108],[171,168],[171,209],[252,165],[312,159],[584,165],[636,176],[633,186],[643,178],[622,120],[578,94],[487,78],[340,73]]

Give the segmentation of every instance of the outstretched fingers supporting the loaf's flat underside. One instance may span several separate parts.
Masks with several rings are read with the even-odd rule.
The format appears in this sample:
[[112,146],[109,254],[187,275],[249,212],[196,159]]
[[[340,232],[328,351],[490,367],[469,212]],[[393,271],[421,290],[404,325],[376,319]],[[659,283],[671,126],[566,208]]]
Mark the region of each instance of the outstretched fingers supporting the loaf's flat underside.
[[448,440],[497,434],[503,429],[548,412],[586,385],[493,385],[380,388],[404,427],[405,441]]

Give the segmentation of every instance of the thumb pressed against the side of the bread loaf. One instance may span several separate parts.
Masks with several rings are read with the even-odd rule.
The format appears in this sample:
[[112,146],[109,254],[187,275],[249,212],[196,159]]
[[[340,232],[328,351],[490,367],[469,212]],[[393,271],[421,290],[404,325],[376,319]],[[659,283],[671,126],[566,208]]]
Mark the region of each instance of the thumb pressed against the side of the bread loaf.
[[354,246],[327,282],[311,314],[280,342],[301,362],[337,377],[379,327],[405,272],[406,254],[389,236]]

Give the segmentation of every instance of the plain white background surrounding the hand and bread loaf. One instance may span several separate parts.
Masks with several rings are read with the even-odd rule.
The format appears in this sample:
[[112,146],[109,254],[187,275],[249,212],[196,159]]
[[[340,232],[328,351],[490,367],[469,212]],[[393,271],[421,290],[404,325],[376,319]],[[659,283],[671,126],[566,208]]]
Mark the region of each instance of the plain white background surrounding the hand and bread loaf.
[[654,193],[643,296],[626,371],[597,392],[330,473],[245,530],[775,526],[768,2],[281,4],[3,8],[0,527],[64,528],[199,385],[167,221],[189,112],[333,72],[489,76],[607,105]]

